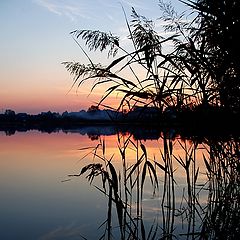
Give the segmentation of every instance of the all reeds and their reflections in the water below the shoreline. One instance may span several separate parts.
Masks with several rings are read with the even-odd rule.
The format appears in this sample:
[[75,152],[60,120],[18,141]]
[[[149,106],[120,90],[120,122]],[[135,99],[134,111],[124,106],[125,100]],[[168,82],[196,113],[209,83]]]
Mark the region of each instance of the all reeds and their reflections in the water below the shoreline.
[[[100,178],[101,185],[96,187],[107,196],[107,219],[102,224],[105,231],[100,239],[235,239],[240,225],[238,142],[206,142],[202,158],[207,174],[204,173],[206,181],[201,182],[203,170],[200,171],[197,152],[202,145],[197,141],[172,140],[166,134],[161,140],[159,156],[151,159],[141,141],[118,135],[120,168],[113,164],[116,156],[106,157],[104,140],[100,139],[91,150],[100,163],[86,165],[80,175],[87,174],[90,183]],[[176,144],[182,155],[175,154]],[[128,151],[134,152],[134,163],[129,163]],[[176,189],[181,188],[176,177],[179,170],[186,182],[181,189],[181,201],[176,196]],[[151,221],[145,219],[144,211],[149,183],[158,201]],[[204,193],[208,197],[202,199]]]

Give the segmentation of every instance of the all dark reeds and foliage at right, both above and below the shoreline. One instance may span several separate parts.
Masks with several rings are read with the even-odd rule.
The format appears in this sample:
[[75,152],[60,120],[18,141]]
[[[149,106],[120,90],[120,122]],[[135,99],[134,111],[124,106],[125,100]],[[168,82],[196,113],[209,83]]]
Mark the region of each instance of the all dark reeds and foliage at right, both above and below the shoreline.
[[[175,139],[172,128],[163,131],[159,156],[150,157],[141,140],[119,134],[120,170],[113,164],[115,156],[106,155],[104,139],[90,149],[94,162],[70,177],[84,174],[106,196],[107,219],[99,239],[239,238],[240,1],[180,2],[189,11],[179,14],[171,3],[157,2],[160,18],[156,22],[161,21],[164,34],[155,28],[155,21],[134,8],[128,20],[123,9],[129,32],[127,48],[112,33],[71,32],[89,62],[63,63],[73,75],[73,86],[92,82],[94,91],[106,85],[99,107],[111,109],[105,99],[120,95],[116,111],[131,112],[136,106],[158,109],[161,117],[148,119],[142,129],[174,126],[174,131],[180,128],[190,136]],[[107,63],[94,63],[81,41],[90,52],[106,50]],[[209,137],[214,130],[226,136],[227,128],[237,136]],[[202,139],[194,138],[194,131]],[[175,152],[175,146],[180,146],[184,156]],[[135,163],[128,162],[129,151],[134,152]],[[186,180],[180,202],[176,195],[181,187],[179,169]],[[204,182],[199,181],[202,174]],[[153,198],[159,193],[159,205],[150,221],[144,208],[146,182],[150,182]],[[206,194],[203,201],[202,194]]]

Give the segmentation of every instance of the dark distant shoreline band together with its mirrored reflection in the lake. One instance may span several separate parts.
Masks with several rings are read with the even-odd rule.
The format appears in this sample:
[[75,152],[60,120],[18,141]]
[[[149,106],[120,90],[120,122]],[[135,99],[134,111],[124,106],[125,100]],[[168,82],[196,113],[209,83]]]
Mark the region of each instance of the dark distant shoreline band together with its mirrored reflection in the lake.
[[[141,110],[141,111],[140,111]],[[155,108],[137,109],[123,114],[109,110],[74,113],[45,112],[37,115],[8,110],[0,114],[0,131],[6,135],[38,130],[40,132],[78,132],[93,138],[117,133],[132,134],[136,139],[158,139],[162,132],[173,136],[229,137],[240,136],[239,114],[226,114],[219,109],[208,111],[169,111]]]

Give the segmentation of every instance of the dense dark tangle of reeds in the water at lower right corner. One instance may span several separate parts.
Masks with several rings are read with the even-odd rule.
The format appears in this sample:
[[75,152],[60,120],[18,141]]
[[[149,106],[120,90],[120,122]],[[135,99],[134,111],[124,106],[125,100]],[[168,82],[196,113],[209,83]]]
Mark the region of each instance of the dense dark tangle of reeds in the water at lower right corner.
[[209,142],[209,200],[202,236],[237,239],[240,236],[239,142]]

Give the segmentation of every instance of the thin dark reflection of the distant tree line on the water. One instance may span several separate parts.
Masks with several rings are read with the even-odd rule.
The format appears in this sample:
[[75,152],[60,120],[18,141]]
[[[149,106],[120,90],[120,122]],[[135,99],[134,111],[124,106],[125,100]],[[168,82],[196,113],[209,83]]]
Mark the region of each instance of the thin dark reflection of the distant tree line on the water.
[[[33,130],[33,129],[32,129]],[[80,135],[87,135],[92,140],[100,136],[112,136],[121,133],[122,135],[131,134],[134,139],[138,140],[157,140],[161,137],[164,130],[165,134],[170,138],[181,136],[181,138],[190,139],[194,136],[198,139],[215,138],[215,139],[229,139],[229,136],[239,136],[239,129],[233,128],[231,125],[227,126],[174,126],[173,128],[167,128],[166,126],[146,126],[138,124],[95,124],[87,125],[82,124],[79,126],[73,126],[72,128],[56,128],[56,127],[44,127],[36,126],[36,129],[43,133],[78,133]],[[9,126],[7,128],[0,127],[0,131],[5,132],[6,135],[11,136],[18,132],[31,131],[28,126]]]

